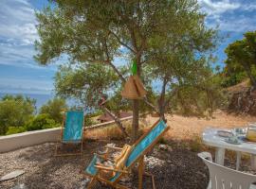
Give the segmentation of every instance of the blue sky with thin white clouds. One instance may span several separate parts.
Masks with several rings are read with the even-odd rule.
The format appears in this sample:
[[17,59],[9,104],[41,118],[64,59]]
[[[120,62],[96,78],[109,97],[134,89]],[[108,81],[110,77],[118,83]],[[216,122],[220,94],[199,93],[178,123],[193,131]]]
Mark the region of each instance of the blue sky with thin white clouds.
[[[229,43],[256,30],[256,0],[198,0],[208,14],[206,25],[225,37],[215,51],[223,66]],[[46,0],[0,0],[0,93],[52,94],[56,65],[41,66],[33,60],[33,43],[39,37],[34,12],[46,7]],[[116,63],[119,63],[117,60]]]

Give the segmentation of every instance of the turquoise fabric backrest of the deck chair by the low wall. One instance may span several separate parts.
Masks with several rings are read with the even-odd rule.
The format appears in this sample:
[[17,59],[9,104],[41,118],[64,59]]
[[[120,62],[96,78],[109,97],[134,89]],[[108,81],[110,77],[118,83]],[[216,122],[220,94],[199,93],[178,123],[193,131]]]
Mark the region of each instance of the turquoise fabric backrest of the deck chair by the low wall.
[[83,112],[69,111],[65,114],[63,141],[80,141],[82,139]]

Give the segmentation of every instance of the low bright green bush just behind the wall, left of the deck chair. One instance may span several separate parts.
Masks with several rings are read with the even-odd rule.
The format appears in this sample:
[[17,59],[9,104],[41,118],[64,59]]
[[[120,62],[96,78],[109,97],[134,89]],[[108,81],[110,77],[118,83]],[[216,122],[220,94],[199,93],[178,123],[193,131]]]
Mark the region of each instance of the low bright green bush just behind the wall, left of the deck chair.
[[32,118],[26,125],[27,130],[38,129],[50,129],[60,127],[59,123],[56,123],[50,118],[49,114],[42,113]]

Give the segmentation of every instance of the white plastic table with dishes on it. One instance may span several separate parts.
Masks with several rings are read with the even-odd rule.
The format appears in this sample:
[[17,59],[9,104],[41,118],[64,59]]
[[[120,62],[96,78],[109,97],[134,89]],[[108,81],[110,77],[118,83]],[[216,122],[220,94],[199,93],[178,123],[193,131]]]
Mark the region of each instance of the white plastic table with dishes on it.
[[237,152],[236,169],[239,169],[241,161],[241,152],[246,152],[251,155],[251,166],[256,170],[256,143],[242,142],[241,145],[232,145],[225,142],[225,137],[217,134],[217,130],[222,129],[205,129],[203,132],[203,143],[208,146],[216,147],[215,163],[224,165],[225,149],[234,150]]

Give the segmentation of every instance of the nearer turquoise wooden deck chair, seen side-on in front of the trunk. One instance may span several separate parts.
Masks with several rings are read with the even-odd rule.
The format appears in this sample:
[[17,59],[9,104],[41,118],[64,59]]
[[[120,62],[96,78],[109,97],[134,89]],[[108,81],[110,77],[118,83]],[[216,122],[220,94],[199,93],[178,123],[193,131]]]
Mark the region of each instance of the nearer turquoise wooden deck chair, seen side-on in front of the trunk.
[[[158,120],[155,122],[152,128],[144,133],[133,145],[133,149],[127,158],[124,169],[119,170],[97,165],[97,163],[101,161],[102,158],[101,156],[95,154],[91,163],[89,163],[89,165],[84,170],[82,170],[82,173],[85,176],[91,178],[87,188],[91,188],[95,181],[99,180],[103,183],[111,185],[114,188],[128,189],[128,187],[120,185],[118,182],[124,174],[129,173],[128,171],[130,171],[136,163],[138,163],[138,188],[142,188],[143,174],[152,177],[153,188],[155,188],[154,176],[144,172],[144,156],[155,146],[157,141],[159,141],[159,139],[168,129],[169,127],[167,127],[163,120]],[[101,170],[111,170],[116,172],[116,175],[113,178],[106,180],[100,176]]]

